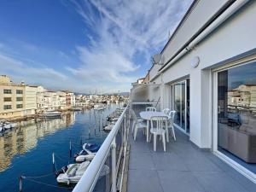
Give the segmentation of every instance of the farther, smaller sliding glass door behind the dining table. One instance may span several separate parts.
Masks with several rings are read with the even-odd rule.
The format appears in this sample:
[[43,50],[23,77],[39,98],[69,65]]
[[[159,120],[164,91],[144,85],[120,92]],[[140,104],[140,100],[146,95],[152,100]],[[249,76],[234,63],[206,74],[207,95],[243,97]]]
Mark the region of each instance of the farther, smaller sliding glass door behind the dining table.
[[175,125],[189,133],[189,79],[172,84],[172,106]]

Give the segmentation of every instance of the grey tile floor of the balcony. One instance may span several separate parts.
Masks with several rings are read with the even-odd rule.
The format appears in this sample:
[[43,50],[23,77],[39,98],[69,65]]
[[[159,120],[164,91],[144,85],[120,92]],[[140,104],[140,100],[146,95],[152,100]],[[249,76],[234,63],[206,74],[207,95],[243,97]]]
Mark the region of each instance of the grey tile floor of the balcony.
[[189,137],[176,131],[177,141],[166,145],[146,143],[141,130],[130,136],[128,192],[256,192],[256,184],[243,177],[211,152],[202,151]]

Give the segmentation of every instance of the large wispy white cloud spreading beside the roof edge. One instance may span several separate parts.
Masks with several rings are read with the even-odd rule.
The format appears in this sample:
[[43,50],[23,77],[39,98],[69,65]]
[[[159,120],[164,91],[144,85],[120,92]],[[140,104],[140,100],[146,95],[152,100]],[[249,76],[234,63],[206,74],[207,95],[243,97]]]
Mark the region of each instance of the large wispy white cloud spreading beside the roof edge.
[[[168,32],[173,32],[191,2],[73,1],[95,35],[87,36],[90,45],[77,48],[79,67],[67,67],[67,70],[91,83],[131,84],[145,75],[145,68],[151,65],[150,56],[163,47]],[[137,60],[137,55],[143,60]]]

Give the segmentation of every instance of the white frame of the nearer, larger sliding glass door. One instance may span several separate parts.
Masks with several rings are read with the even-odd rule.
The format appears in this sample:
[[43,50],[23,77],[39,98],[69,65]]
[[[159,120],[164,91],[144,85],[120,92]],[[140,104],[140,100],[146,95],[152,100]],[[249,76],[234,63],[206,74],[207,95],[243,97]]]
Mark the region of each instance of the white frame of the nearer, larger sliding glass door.
[[233,67],[247,65],[256,61],[256,58],[251,60],[246,60],[246,58],[244,58],[244,60],[245,61],[235,61],[234,63],[212,69],[212,153],[216,154],[218,158],[224,160],[225,163],[236,169],[237,172],[240,172],[243,176],[253,181],[253,183],[256,183],[256,174],[218,150],[218,73]]

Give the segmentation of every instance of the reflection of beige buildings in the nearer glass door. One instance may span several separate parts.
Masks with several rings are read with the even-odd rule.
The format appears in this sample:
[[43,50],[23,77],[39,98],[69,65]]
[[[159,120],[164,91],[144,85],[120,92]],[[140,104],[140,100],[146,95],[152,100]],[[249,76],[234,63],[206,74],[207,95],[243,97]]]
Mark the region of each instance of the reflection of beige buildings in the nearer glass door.
[[228,104],[256,108],[256,84],[241,84],[228,92]]

